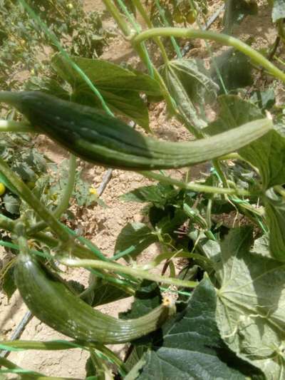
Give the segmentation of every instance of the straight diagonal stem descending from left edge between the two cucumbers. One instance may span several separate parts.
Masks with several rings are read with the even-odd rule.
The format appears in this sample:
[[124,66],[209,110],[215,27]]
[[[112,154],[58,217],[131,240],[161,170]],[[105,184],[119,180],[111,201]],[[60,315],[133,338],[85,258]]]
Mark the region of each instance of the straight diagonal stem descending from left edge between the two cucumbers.
[[22,200],[28,203],[33,210],[51,227],[51,230],[58,235],[61,242],[70,242],[71,237],[66,230],[61,226],[61,223],[56,220],[51,212],[42,205],[40,200],[33,195],[31,190],[20,178],[9,168],[9,165],[5,163],[3,158],[0,157],[0,172],[4,174],[6,178],[9,178],[9,182],[16,188]]

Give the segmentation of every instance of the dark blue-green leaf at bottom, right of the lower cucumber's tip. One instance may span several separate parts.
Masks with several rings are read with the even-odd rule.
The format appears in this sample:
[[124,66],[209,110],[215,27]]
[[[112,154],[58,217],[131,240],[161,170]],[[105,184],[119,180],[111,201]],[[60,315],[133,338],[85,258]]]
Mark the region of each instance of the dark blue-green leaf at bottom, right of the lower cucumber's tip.
[[138,379],[233,380],[245,379],[245,374],[254,376],[254,367],[238,359],[222,342],[215,322],[216,301],[215,289],[206,278],[187,307],[162,327],[151,349],[142,356],[146,364]]

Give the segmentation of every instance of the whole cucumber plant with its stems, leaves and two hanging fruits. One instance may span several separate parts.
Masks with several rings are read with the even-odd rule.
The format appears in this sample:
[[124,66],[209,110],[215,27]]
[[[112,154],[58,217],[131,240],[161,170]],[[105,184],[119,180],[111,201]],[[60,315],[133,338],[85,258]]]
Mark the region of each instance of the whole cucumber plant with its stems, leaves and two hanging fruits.
[[[284,106],[276,104],[272,88],[261,90],[254,78],[248,79],[259,70],[264,86],[270,77],[283,88],[285,73],[278,44],[268,59],[229,36],[241,21],[240,15],[234,19],[237,11],[256,3],[239,1],[233,8],[227,1],[224,34],[202,30],[201,12],[197,29],[172,27],[163,18],[164,26],[155,27],[139,0],[131,11],[121,0],[117,5],[104,0],[145,65],[142,72],[73,56],[44,15],[39,18],[41,12],[30,3],[19,2],[58,48],[50,62],[58,81],[56,86],[40,83],[33,91],[3,88],[0,101],[13,108],[14,120],[3,120],[1,132],[43,133],[71,152],[71,159],[55,208],[44,202],[44,183],[31,188],[12,170],[11,160],[0,157],[1,181],[19,199],[19,217],[2,213],[0,227],[13,248],[14,282],[24,302],[41,322],[73,340],[6,340],[0,347],[85,349],[90,352],[87,379],[283,379]],[[197,1],[190,3],[190,9],[198,8]],[[155,6],[161,15],[157,1]],[[271,6],[282,43],[279,1],[268,4],[269,13]],[[143,31],[134,19],[138,14],[147,25]],[[170,38],[171,56],[162,38]],[[180,38],[229,48],[217,59],[209,49],[209,69],[202,60],[183,58]],[[160,69],[149,54],[150,39],[161,54]],[[241,62],[249,71],[247,80],[239,71]],[[152,131],[142,93],[148,103],[165,101],[170,117],[195,140],[172,143],[147,135]],[[207,107],[217,110],[214,120],[207,118]],[[131,128],[122,115],[145,131]],[[61,219],[73,193],[76,156],[157,182],[122,196],[122,202],[145,203],[145,222],[122,228],[112,257]],[[197,163],[204,163],[198,179],[192,176]],[[187,168],[180,180],[165,171],[177,168]],[[138,264],[137,257],[153,243],[160,253]],[[88,287],[66,282],[58,263],[86,268]],[[10,269],[6,273],[12,281]],[[134,297],[132,307],[118,319],[94,309],[129,296]],[[123,360],[106,346],[120,342],[129,343]],[[0,369],[3,373],[20,373],[23,379],[44,376],[1,357],[0,365],[6,368]]]

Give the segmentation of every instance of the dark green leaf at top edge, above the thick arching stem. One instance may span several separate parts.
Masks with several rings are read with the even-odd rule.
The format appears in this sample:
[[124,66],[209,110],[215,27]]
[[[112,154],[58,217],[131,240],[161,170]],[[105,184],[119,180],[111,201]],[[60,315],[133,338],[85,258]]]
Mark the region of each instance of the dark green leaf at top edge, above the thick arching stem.
[[226,0],[224,10],[224,33],[232,34],[234,26],[240,24],[244,16],[257,14],[258,6],[255,0]]

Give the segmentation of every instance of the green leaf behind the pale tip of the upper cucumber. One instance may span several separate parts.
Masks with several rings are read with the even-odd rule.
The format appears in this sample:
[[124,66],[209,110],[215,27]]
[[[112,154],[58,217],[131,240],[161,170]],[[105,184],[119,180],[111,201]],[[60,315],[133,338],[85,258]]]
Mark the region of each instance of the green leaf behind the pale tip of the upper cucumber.
[[[219,117],[205,130],[215,135],[261,117],[253,103],[238,96],[220,96]],[[239,154],[259,169],[264,189],[285,183],[285,137],[276,130],[240,149]]]

